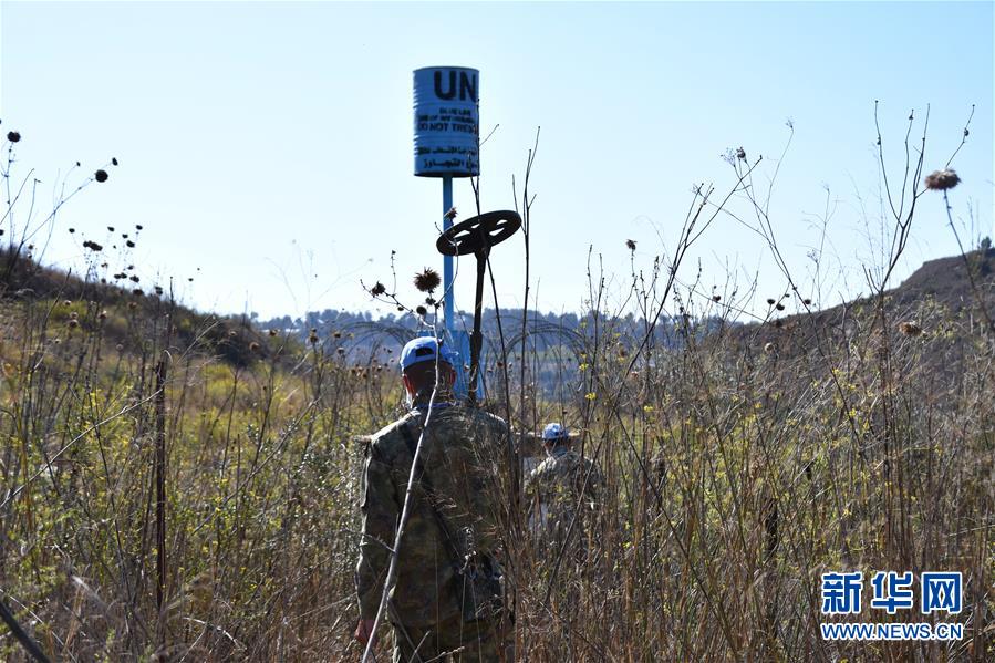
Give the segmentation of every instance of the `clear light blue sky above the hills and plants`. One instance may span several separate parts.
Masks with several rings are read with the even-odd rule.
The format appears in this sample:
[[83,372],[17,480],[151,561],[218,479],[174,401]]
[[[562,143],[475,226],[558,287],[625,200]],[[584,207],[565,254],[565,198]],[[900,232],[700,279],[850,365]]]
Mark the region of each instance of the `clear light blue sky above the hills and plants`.
[[[765,156],[763,184],[787,118],[795,137],[771,204],[782,250],[805,274],[828,186],[828,279],[820,294],[802,282],[823,305],[866,291],[866,224],[873,235],[881,211],[874,100],[892,178],[911,108],[922,117],[931,104],[930,172],[977,104],[952,201],[968,226],[974,209],[975,234],[992,232],[992,2],[3,2],[0,21],[0,128],[23,135],[17,172],[34,167],[48,200],[76,159],[86,172],[121,160],[63,209],[45,259],[77,263],[82,232],[104,242],[105,226],[142,224],[126,260],[143,283],[176,277],[200,309],[388,311],[360,279],[387,282],[392,249],[400,294],[415,303],[411,276],[441,267],[441,185],[412,175],[411,72],[429,64],[481,72],[481,131],[500,124],[481,152],[485,209],[512,206],[511,176],[542,127],[531,182],[542,310],[582,308],[590,245],[619,300],[625,240],[649,269],[661,240],[673,245],[692,185],[732,186],[729,147]],[[468,180],[456,207],[473,213]],[[954,251],[942,198],[924,196],[898,278]],[[727,272],[740,296],[759,274],[760,303],[784,292],[764,242],[729,217],[684,279],[698,259],[706,294]],[[518,241],[495,251],[502,305],[521,303],[522,263]],[[470,270],[458,279],[465,309]]]

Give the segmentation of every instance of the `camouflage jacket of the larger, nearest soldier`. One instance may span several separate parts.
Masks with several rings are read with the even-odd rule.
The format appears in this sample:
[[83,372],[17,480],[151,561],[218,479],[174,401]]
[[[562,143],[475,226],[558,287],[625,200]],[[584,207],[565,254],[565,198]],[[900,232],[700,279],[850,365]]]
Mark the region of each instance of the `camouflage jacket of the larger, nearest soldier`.
[[[408,428],[416,444],[424,419],[424,414],[412,411],[376,433],[366,449],[363,535],[356,566],[362,619],[376,614],[411,475],[412,455],[402,428]],[[427,500],[434,499],[449,533],[458,539],[458,550],[495,559],[509,442],[505,422],[486,412],[459,405],[432,412],[418,463],[434,496],[429,497],[421,483],[414,488],[397,579],[388,594],[388,620],[424,626],[460,613],[452,548]]]

